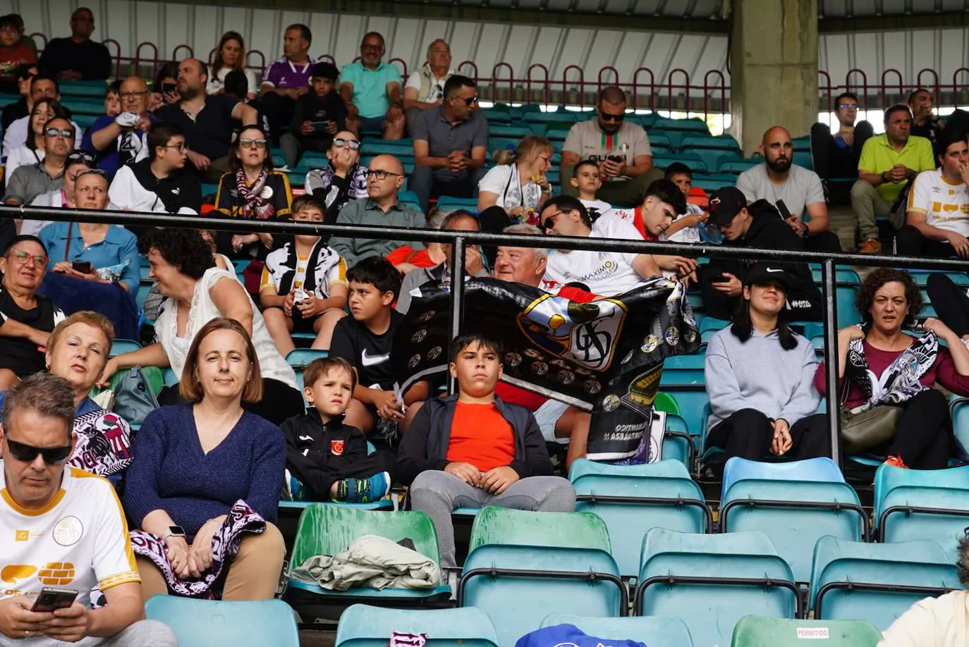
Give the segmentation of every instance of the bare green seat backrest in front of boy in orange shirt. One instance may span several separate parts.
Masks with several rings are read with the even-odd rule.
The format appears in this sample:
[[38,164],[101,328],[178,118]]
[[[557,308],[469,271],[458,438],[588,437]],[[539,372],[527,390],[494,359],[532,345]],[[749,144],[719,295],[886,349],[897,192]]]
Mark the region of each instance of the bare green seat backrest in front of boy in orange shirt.
[[492,544],[598,548],[610,552],[606,523],[588,512],[532,512],[488,506],[475,516],[468,550]]

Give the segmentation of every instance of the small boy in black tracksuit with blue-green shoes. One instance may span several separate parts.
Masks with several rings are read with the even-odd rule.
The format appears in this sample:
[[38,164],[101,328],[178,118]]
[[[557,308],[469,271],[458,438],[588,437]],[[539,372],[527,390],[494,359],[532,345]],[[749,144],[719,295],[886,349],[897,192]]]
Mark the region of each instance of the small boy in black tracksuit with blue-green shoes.
[[339,357],[314,359],[303,371],[310,407],[282,424],[286,436],[286,486],[294,501],[365,504],[391,492],[393,456],[367,454],[366,439],[344,424],[357,374]]

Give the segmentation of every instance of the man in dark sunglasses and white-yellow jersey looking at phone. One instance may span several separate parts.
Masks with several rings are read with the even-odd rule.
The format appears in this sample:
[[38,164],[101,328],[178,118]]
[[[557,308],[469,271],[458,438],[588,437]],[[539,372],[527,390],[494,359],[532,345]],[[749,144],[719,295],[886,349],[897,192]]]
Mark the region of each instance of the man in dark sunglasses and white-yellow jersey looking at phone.
[[[37,566],[20,567],[15,590],[0,601],[0,632],[50,647],[78,641],[175,647],[172,630],[142,620],[141,578],[113,488],[104,478],[65,466],[76,442],[71,385],[47,373],[33,375],[7,392],[3,418],[3,532],[50,540],[8,542],[4,564]],[[54,535],[71,540],[58,542]],[[81,600],[97,586],[106,603],[97,609],[85,600],[52,613],[30,610],[48,586],[41,567],[54,563],[71,564],[70,584]]]

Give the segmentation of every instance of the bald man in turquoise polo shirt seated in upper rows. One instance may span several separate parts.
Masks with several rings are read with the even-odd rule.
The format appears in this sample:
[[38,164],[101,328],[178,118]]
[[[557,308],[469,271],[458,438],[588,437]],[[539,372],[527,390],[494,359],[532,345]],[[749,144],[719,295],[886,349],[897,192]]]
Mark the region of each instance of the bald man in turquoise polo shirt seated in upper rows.
[[384,63],[384,37],[369,32],[360,42],[360,60],[340,70],[340,96],[347,105],[347,127],[383,133],[384,139],[404,137],[402,80],[396,66]]

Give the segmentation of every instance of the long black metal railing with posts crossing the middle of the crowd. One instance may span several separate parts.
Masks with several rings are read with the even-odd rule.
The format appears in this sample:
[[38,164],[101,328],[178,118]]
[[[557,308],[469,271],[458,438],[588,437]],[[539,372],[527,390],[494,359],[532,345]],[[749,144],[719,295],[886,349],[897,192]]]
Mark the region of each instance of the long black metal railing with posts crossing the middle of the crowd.
[[[644,240],[620,240],[614,238],[573,237],[559,235],[525,235],[515,233],[486,233],[483,231],[418,230],[403,227],[369,227],[364,225],[313,225],[309,223],[278,222],[266,220],[240,220],[182,216],[168,213],[134,213],[124,211],[95,211],[90,209],[67,209],[36,206],[0,205],[0,217],[32,218],[60,222],[108,223],[113,225],[182,227],[197,230],[266,232],[311,235],[343,235],[400,241],[417,240],[441,242],[452,245],[452,266],[462,267],[464,249],[468,244],[508,245],[513,247],[538,247],[546,249],[569,249],[583,251],[614,251],[637,254],[668,254],[693,258],[734,260],[763,260],[777,262],[821,263],[821,287],[824,296],[824,328],[826,362],[825,384],[828,391],[828,425],[831,434],[831,458],[841,462],[838,438],[841,421],[838,416],[838,354],[828,352],[837,349],[837,299],[835,269],[837,265],[860,265],[874,267],[924,268],[958,272],[969,271],[969,262],[950,259],[918,259],[913,257],[869,256],[862,254],[824,254],[819,252],[793,252],[787,250],[749,249],[717,245],[688,245],[670,242],[646,242]],[[462,327],[464,284],[454,281],[451,289],[451,331],[456,336]],[[692,431],[692,430],[691,430]]]

